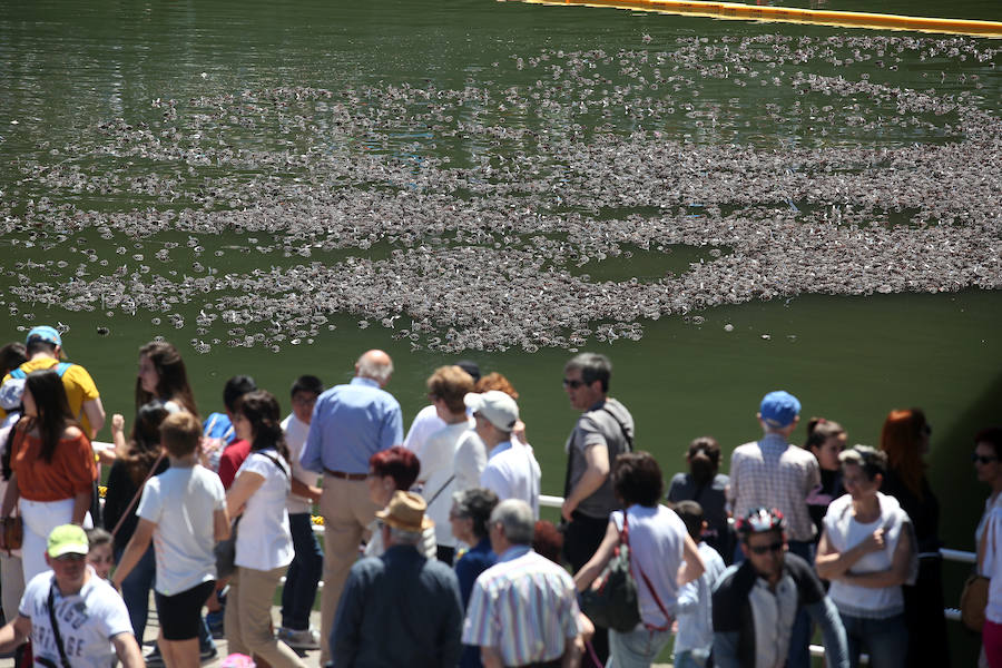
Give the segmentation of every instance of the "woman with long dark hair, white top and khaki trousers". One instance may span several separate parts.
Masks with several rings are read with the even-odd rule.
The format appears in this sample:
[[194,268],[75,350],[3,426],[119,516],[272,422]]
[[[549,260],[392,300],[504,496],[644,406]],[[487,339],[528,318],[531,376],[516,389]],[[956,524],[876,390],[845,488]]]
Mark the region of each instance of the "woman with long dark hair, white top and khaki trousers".
[[285,503],[292,489],[288,446],[278,400],[264,390],[245,394],[233,425],[237,438],[250,443],[250,454],[226,492],[229,515],[240,518],[237,568],[226,599],[226,640],[233,654],[261,657],[274,668],[305,668],[272,631],[272,599],[294,556]]

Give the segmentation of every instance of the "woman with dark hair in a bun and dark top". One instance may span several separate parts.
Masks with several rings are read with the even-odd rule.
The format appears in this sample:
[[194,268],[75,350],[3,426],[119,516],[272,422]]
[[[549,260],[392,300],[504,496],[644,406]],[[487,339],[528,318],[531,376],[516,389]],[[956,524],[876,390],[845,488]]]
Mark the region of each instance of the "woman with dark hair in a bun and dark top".
[[720,469],[720,444],[713,436],[689,443],[688,473],[676,473],[668,487],[668,501],[696,501],[703,508],[706,529],[703,540],[717,550],[725,563],[734,559],[734,536],[727,522],[727,485],[730,479]]

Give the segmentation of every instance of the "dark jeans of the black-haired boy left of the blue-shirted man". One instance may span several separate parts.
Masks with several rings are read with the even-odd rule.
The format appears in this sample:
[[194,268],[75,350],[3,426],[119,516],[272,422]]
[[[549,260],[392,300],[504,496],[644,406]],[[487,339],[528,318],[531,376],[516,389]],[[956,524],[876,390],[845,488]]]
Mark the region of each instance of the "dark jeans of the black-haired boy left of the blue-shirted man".
[[285,573],[282,590],[282,626],[296,631],[310,628],[310,611],[316,600],[316,586],[324,571],[324,553],[313,534],[308,512],[288,515],[288,529],[296,556]]

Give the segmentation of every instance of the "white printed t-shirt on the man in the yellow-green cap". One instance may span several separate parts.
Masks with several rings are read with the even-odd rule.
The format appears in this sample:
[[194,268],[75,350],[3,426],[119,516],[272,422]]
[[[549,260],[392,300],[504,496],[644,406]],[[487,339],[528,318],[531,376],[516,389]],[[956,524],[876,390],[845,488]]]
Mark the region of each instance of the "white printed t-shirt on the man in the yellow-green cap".
[[90,578],[75,595],[63,597],[52,571],[35,576],[24,588],[18,611],[31,620],[31,650],[61,666],[52,622],[49,619],[49,590],[55,588],[53,605],[67,659],[73,668],[109,668],[115,665],[111,638],[131,633],[132,622],[125,601],[91,567]]

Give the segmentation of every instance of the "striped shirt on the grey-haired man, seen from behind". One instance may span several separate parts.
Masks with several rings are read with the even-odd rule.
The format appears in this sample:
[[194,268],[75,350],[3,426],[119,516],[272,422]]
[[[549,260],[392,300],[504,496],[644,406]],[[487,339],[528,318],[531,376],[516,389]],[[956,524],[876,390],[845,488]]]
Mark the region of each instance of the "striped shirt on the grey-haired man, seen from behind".
[[568,572],[514,546],[473,584],[463,644],[498,649],[505,666],[552,661],[580,632],[578,613]]

